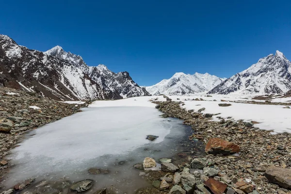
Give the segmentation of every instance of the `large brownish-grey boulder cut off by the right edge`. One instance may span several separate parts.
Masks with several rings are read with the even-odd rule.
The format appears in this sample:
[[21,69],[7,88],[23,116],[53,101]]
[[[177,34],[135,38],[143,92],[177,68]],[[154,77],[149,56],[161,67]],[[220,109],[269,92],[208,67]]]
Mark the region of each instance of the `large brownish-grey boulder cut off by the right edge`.
[[291,189],[291,169],[270,166],[265,172],[265,177],[269,182]]

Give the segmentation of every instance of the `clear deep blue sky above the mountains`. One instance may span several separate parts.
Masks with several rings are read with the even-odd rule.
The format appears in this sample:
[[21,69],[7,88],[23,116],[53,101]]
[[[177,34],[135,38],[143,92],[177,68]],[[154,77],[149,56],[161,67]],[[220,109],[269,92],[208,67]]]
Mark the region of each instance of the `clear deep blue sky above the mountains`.
[[291,59],[291,0],[5,0],[0,33],[60,45],[139,85],[175,72],[230,77],[280,50]]

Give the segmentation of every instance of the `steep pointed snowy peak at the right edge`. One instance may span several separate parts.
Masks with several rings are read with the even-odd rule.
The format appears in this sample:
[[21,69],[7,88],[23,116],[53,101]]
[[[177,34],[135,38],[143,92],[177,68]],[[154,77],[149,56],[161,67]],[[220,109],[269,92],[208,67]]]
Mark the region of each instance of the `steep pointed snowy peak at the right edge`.
[[209,94],[278,94],[291,90],[291,62],[276,51],[214,87]]

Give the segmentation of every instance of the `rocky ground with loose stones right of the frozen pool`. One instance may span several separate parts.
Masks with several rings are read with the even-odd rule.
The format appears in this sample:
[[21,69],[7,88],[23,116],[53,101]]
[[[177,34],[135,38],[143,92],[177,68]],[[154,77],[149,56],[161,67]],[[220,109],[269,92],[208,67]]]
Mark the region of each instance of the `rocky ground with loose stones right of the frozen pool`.
[[[189,155],[188,162],[172,166],[172,172],[162,168],[163,176],[149,178],[153,187],[138,194],[291,194],[291,134],[272,135],[255,128],[255,121],[224,119],[201,109],[186,111],[182,102],[154,103],[163,117],[183,119],[191,126],[189,139],[202,141],[206,155]],[[210,121],[214,116],[220,122]]]

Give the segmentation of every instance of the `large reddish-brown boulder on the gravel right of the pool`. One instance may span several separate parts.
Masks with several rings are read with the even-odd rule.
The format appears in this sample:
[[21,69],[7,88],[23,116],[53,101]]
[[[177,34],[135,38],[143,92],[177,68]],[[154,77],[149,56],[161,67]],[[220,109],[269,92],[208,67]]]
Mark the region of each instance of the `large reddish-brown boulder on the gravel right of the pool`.
[[205,146],[205,152],[209,154],[232,154],[240,152],[240,146],[219,138],[211,138]]

